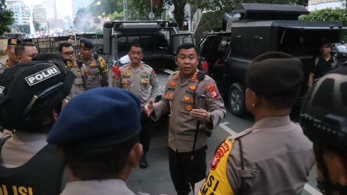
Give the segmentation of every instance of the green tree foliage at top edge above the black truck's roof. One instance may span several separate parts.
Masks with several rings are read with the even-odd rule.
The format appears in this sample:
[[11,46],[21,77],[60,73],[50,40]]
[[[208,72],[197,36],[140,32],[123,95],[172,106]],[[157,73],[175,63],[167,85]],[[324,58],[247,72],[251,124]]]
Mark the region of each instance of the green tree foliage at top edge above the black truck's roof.
[[237,3],[267,3],[267,4],[301,4],[307,5],[307,0],[188,0],[197,8],[230,13]]

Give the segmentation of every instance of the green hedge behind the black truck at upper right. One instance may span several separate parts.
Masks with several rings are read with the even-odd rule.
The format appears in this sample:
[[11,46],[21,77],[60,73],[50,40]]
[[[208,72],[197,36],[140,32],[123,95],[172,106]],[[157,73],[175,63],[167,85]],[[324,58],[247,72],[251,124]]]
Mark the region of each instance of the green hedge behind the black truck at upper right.
[[311,11],[308,15],[300,16],[300,19],[312,21],[340,21],[343,26],[347,26],[346,11],[342,11],[340,8],[325,8]]

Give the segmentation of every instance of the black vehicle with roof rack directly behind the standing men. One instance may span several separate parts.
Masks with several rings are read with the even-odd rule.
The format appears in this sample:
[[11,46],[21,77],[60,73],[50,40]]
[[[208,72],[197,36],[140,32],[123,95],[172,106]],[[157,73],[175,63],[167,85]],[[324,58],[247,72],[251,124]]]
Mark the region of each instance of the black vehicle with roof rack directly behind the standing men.
[[104,24],[104,46],[111,65],[128,54],[134,43],[143,47],[142,61],[154,69],[174,69],[174,51],[182,43],[194,43],[191,33],[178,33],[169,21],[112,21]]

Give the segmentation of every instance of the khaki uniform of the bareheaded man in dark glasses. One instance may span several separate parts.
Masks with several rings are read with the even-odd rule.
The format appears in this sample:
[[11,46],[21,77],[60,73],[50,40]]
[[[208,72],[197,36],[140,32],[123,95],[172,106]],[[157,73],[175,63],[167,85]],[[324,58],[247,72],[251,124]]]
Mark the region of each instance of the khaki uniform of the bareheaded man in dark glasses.
[[72,84],[71,93],[66,97],[66,99],[70,100],[78,94],[86,91],[84,85],[86,83],[86,78],[88,77],[88,70],[85,65],[82,65],[82,67],[79,68],[76,62],[67,62],[66,68],[75,75],[75,81]]

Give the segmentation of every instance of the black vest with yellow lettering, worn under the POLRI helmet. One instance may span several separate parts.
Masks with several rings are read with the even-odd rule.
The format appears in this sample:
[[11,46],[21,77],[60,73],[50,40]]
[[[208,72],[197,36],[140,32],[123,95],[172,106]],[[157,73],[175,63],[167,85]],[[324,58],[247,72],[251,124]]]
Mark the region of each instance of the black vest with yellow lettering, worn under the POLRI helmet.
[[[0,154],[7,139],[0,139]],[[0,166],[0,195],[59,195],[63,170],[63,160],[47,144],[22,166]]]

